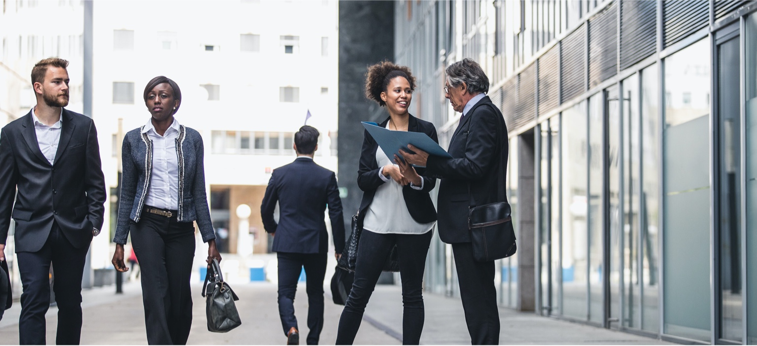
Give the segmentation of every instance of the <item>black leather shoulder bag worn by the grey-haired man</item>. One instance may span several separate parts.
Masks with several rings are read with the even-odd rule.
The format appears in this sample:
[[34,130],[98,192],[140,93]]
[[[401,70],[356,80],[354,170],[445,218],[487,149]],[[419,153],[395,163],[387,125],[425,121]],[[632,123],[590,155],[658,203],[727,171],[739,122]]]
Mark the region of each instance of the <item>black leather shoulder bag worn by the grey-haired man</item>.
[[[500,112],[495,111],[495,113],[502,117]],[[510,204],[507,203],[505,196],[506,171],[503,162],[506,160],[506,154],[504,145],[500,145],[500,165],[497,173],[497,201],[499,202],[476,206],[475,199],[471,195],[471,185],[468,183],[468,229],[471,235],[473,258],[478,262],[510,257],[518,249],[516,232],[512,228]]]

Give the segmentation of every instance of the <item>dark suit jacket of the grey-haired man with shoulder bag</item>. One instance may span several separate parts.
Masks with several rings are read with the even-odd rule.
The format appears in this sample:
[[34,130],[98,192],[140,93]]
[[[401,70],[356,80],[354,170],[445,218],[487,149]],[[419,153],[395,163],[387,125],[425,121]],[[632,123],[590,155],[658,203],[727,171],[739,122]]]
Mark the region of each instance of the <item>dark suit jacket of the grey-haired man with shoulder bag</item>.
[[[442,242],[471,241],[468,231],[468,185],[471,186],[475,205],[498,202],[497,173],[501,153],[507,150],[505,120],[491,99],[484,96],[471,108],[452,135],[447,152],[454,158],[428,157],[428,174],[441,178],[437,207]],[[506,161],[502,163],[503,168],[507,167]]]

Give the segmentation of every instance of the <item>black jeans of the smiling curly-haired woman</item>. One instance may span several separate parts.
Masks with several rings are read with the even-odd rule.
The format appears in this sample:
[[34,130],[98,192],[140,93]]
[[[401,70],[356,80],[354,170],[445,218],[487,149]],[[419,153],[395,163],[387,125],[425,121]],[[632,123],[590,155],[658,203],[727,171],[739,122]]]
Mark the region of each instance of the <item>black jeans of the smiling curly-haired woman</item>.
[[425,310],[423,271],[431,231],[423,234],[382,234],[363,230],[355,263],[355,281],[339,319],[336,344],[352,344],[363,313],[391,248],[397,244],[402,277],[402,344],[419,344]]

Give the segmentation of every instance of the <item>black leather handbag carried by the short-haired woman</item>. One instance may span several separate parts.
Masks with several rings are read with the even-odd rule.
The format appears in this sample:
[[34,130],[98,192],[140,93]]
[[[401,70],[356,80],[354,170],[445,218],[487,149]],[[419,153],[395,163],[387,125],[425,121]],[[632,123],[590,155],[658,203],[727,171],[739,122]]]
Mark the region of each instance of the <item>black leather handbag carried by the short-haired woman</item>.
[[207,268],[202,296],[205,297],[207,330],[225,333],[241,325],[239,313],[234,304],[234,301],[238,301],[239,298],[229,284],[223,281],[221,268],[216,259],[213,259],[213,263],[210,263]]

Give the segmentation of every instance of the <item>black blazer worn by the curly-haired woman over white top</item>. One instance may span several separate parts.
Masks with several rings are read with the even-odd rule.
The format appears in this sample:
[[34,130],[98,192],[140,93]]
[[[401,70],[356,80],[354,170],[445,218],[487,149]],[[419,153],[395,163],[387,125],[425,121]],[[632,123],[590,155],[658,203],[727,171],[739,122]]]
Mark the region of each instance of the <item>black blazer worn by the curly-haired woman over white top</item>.
[[[389,118],[384,120],[378,126],[385,127],[389,122]],[[423,132],[434,142],[439,142],[436,135],[436,128],[434,124],[425,120],[420,120],[413,115],[410,115],[410,120],[407,123],[407,130],[410,132]],[[376,162],[376,150],[378,150],[378,143],[375,142],[373,137],[366,130],[363,139],[363,151],[360,154],[360,169],[357,171],[357,186],[363,190],[363,201],[360,202],[359,220],[362,224],[363,219],[366,217],[366,210],[371,205],[373,197],[376,194],[378,186],[384,184],[384,180],[378,176],[378,167]],[[391,157],[390,157],[391,158]],[[407,211],[410,212],[410,216],[418,223],[431,223],[436,221],[436,209],[434,208],[434,202],[431,201],[431,197],[428,192],[434,189],[436,186],[436,178],[426,176],[424,168],[416,168],[416,172],[423,179],[423,189],[416,190],[410,187],[410,184],[403,186],[402,197],[407,204]]]

